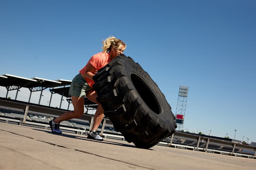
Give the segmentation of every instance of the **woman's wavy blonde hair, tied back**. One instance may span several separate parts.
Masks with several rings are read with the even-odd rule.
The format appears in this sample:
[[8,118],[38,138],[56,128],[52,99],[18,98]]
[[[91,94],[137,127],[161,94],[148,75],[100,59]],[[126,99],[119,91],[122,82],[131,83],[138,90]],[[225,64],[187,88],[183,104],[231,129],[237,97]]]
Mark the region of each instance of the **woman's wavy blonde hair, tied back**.
[[124,49],[126,48],[126,44],[120,40],[120,39],[116,39],[116,37],[108,37],[106,40],[102,41],[103,47],[102,47],[102,51],[103,52],[108,52],[111,51],[111,47],[113,46],[113,48],[117,48],[120,49],[121,46],[124,46]]

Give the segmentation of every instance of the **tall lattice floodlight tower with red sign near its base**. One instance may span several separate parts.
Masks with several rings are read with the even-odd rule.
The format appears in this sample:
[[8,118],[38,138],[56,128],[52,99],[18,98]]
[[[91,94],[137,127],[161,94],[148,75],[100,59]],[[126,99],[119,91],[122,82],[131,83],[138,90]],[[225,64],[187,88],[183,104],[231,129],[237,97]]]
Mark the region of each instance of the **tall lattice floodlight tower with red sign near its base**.
[[187,98],[188,98],[188,86],[180,85],[177,107],[176,107],[176,123],[178,130],[183,129],[185,111],[187,106]]

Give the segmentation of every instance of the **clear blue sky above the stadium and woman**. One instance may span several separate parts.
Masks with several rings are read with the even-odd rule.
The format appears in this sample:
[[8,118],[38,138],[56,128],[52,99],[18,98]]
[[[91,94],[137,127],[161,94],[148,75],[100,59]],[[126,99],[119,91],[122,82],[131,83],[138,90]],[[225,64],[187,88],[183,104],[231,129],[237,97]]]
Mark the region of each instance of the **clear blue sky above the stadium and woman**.
[[116,36],[174,114],[179,86],[189,86],[184,130],[234,138],[236,129],[237,140],[256,142],[255,8],[254,0],[1,0],[0,75],[72,80]]

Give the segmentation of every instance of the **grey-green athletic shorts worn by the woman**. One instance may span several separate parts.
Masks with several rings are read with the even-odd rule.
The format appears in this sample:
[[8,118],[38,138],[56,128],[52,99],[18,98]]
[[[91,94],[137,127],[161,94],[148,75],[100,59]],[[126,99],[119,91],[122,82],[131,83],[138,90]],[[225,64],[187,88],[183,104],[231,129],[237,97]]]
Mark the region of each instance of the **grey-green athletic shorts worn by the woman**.
[[86,92],[92,90],[92,87],[88,85],[85,78],[79,73],[73,78],[69,87],[68,95],[76,97],[85,97]]

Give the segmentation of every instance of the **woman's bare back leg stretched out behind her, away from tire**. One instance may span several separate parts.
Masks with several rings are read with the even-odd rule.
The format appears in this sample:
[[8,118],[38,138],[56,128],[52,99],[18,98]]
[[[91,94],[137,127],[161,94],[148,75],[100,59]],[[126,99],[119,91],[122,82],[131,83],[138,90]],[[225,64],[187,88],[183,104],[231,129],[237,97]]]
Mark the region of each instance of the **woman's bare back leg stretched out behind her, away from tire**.
[[74,106],[73,111],[68,111],[63,115],[54,119],[55,123],[66,121],[69,119],[81,117],[84,114],[84,97],[71,96],[72,104]]

